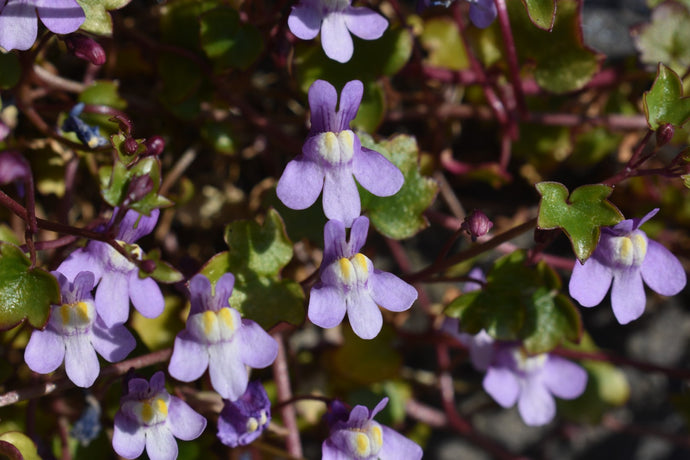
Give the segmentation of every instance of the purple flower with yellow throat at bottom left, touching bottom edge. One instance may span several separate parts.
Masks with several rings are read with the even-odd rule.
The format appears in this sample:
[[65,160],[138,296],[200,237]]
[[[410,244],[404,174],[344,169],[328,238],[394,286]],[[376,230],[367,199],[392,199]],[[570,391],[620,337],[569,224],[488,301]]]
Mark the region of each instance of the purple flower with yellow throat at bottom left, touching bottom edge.
[[180,398],[165,390],[162,371],[145,379],[133,378],[115,414],[113,449],[124,458],[137,458],[144,451],[151,460],[177,458],[177,441],[198,438],[206,419]]

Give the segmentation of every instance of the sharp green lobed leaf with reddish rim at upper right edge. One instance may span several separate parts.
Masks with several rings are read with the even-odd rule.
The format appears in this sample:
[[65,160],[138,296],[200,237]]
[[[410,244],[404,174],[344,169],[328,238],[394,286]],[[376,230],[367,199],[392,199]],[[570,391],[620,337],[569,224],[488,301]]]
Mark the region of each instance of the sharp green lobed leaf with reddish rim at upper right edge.
[[642,97],[647,124],[653,130],[670,123],[682,126],[690,118],[690,97],[683,97],[678,75],[659,64],[652,88]]

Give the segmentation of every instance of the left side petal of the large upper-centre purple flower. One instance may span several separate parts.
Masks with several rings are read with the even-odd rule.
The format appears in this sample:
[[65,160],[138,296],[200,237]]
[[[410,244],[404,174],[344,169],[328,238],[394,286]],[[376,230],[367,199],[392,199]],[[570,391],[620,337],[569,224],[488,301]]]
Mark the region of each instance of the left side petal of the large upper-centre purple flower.
[[304,155],[299,155],[285,167],[278,180],[276,194],[288,208],[306,209],[319,197],[323,180],[321,167]]

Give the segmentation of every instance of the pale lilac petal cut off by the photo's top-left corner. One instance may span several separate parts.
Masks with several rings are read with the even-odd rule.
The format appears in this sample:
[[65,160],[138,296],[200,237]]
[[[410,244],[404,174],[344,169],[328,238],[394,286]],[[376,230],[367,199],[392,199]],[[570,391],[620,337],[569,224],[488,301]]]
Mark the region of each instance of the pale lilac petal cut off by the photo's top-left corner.
[[[3,2],[4,3],[4,2]],[[0,11],[0,46],[7,51],[28,50],[36,41],[38,23],[30,0],[15,0]]]

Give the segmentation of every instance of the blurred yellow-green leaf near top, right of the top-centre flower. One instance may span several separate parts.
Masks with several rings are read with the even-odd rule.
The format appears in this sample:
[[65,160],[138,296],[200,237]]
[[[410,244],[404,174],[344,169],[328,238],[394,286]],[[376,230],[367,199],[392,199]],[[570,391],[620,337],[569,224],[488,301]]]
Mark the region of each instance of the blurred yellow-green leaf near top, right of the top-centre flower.
[[429,53],[426,62],[434,67],[463,70],[470,67],[458,25],[448,17],[428,19],[419,36],[422,47]]

